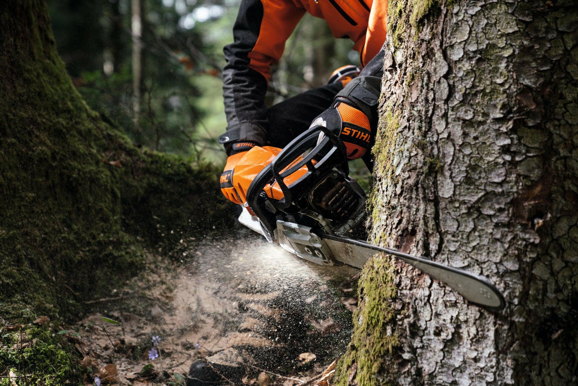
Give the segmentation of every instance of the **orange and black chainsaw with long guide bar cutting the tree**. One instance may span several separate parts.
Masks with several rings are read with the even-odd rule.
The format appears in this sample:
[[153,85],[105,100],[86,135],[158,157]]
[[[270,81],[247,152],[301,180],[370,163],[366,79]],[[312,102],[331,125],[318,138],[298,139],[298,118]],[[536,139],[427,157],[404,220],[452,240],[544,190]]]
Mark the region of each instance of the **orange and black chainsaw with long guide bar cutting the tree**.
[[309,128],[284,149],[255,146],[235,167],[233,183],[244,202],[239,222],[299,258],[361,268],[384,252],[446,283],[470,303],[492,311],[506,304],[484,276],[357,240],[365,232],[365,193],[349,176],[343,142],[324,126]]

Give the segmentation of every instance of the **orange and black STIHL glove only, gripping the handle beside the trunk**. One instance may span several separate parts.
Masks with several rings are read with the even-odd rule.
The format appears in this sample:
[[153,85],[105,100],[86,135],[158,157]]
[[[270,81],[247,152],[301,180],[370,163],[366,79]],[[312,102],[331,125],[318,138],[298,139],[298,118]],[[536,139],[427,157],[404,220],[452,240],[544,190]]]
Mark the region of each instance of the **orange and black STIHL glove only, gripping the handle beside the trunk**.
[[371,139],[369,117],[355,102],[345,97],[335,98],[331,107],[313,120],[311,126],[316,124],[321,124],[339,135],[350,160],[363,157],[369,149]]

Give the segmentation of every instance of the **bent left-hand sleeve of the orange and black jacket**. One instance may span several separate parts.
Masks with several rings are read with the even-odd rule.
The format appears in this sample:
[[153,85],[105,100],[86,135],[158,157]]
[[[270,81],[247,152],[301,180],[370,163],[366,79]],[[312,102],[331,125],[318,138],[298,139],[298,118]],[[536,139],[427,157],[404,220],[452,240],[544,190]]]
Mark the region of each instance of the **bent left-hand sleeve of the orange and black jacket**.
[[283,54],[285,42],[305,13],[292,0],[243,0],[233,27],[234,43],[225,46],[223,98],[227,133],[219,142],[265,144],[265,93],[271,65]]

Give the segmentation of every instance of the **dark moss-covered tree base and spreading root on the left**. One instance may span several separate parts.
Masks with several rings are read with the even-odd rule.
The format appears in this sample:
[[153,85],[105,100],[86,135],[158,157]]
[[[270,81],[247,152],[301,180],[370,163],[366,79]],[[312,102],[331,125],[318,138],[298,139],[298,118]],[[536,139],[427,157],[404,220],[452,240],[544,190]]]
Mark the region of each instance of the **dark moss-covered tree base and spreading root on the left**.
[[215,170],[135,148],[91,111],[44,1],[0,5],[0,310],[63,317],[134,274],[158,229],[230,223]]

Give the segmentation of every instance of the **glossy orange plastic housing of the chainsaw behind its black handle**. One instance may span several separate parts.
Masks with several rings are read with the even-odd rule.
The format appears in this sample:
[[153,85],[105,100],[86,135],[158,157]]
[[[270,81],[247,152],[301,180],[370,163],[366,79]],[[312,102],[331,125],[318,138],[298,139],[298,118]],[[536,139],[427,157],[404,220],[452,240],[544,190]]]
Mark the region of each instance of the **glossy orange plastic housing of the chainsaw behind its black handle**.
[[[275,159],[281,150],[283,149],[273,148],[273,146],[254,146],[236,164],[235,173],[233,174],[233,186],[235,187],[237,193],[239,193],[241,200],[243,200],[243,204],[247,202],[247,190],[249,190],[249,185],[251,185],[253,179],[261,172],[261,170],[265,168],[265,166],[270,164],[271,161]],[[290,168],[300,160],[301,157],[298,157],[294,162],[287,166],[287,168]],[[288,175],[283,179],[283,181],[287,186],[290,186],[292,183],[297,182],[299,178],[303,177],[306,172],[307,167],[303,166],[291,175]],[[276,181],[273,184],[268,183],[265,185],[263,190],[267,196],[269,196],[269,198],[273,198],[275,200],[280,200],[283,198],[283,192],[281,192],[279,183]]]

